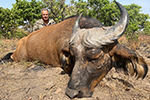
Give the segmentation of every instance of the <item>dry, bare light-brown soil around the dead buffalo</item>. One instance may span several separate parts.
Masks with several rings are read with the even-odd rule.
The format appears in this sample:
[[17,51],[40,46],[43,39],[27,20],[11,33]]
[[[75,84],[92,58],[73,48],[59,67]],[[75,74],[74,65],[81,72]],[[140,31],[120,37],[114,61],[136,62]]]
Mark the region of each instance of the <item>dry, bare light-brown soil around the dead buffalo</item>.
[[[150,69],[149,40],[140,41],[136,52],[145,58]],[[17,42],[0,40],[0,58],[13,52]],[[70,100],[65,95],[68,81],[69,76],[61,68],[36,61],[5,63],[0,65],[0,100]],[[137,80],[113,68],[95,87],[92,97],[73,100],[150,100],[150,71],[145,79]]]

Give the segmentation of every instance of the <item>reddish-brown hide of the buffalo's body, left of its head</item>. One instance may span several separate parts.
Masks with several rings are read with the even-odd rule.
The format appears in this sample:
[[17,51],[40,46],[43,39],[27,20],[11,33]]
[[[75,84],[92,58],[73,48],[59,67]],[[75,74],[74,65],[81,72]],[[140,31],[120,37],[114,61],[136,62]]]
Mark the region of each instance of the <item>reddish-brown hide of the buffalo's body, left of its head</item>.
[[12,55],[14,61],[39,60],[60,67],[61,50],[67,47],[76,17],[44,27],[22,38]]

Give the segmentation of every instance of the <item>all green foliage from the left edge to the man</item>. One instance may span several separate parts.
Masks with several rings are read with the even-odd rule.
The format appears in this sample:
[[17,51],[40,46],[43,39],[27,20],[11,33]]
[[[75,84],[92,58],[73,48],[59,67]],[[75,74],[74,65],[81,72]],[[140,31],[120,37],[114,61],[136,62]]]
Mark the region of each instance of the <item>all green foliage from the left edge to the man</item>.
[[[31,32],[34,22],[41,18],[41,1],[16,0],[13,8],[0,8],[0,37],[13,38],[26,36],[26,32]],[[18,32],[18,27],[25,31]],[[19,34],[20,33],[20,34]]]

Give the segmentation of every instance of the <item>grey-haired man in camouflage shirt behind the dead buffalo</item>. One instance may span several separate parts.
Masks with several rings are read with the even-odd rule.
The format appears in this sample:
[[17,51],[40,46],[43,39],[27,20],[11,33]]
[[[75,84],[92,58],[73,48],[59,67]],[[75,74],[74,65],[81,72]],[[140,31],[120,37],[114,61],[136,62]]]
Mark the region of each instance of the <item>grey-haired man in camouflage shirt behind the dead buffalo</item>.
[[36,31],[36,30],[38,30],[42,27],[48,26],[48,25],[56,24],[56,22],[53,19],[49,19],[48,9],[43,8],[41,10],[41,14],[42,14],[42,19],[39,19],[35,22],[33,31]]

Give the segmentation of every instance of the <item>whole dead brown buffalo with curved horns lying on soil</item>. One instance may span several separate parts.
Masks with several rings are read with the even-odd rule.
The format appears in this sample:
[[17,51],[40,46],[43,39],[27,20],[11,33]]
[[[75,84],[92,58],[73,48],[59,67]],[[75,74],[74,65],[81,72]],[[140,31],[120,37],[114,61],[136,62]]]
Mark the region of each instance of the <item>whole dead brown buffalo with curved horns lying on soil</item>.
[[70,17],[22,38],[16,51],[1,61],[39,60],[72,71],[66,88],[70,98],[90,97],[113,66],[144,78],[148,71],[145,60],[118,43],[129,18],[126,9],[116,4],[121,17],[112,27],[104,27],[99,21],[81,15]]

